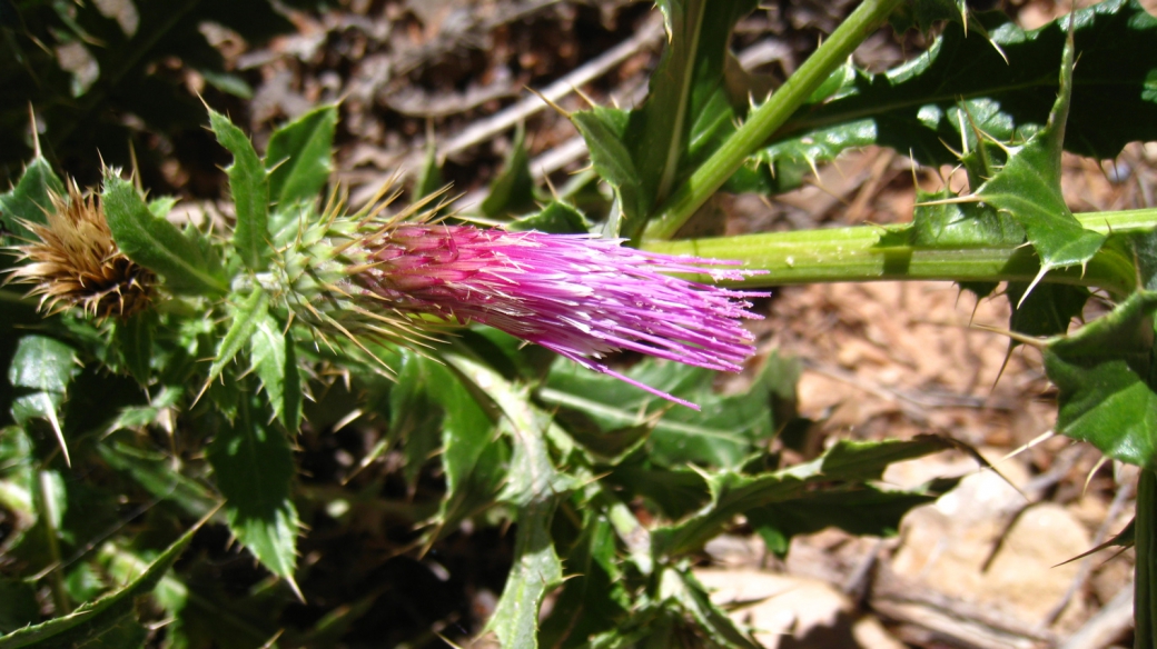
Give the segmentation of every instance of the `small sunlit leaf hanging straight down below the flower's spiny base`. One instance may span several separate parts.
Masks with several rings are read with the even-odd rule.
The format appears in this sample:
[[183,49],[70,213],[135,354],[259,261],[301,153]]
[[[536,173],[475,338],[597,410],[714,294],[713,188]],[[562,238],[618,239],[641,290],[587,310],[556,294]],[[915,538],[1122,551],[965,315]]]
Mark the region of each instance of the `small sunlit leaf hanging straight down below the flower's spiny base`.
[[301,425],[302,388],[292,334],[282,333],[281,324],[266,313],[258,320],[249,344],[273,413],[289,434],[295,434]]

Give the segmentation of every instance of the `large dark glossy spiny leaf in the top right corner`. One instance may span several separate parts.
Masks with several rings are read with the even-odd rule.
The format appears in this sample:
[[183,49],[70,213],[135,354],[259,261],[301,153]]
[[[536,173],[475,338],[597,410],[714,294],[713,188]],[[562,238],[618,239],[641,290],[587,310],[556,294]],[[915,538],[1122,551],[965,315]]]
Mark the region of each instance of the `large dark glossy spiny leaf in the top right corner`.
[[[1027,31],[1003,12],[977,20],[987,35],[970,28],[966,36],[955,22],[927,53],[886,73],[860,72],[830,100],[803,106],[757,157],[786,161],[790,173],[805,157],[824,162],[875,143],[922,164],[956,164],[945,144],[959,149],[963,136],[977,147],[970,115],[993,137],[1026,140],[1048,118],[1068,20]],[[1112,158],[1128,142],[1157,140],[1157,17],[1135,0],[1108,0],[1076,13],[1075,38],[1079,65],[1066,150]],[[819,148],[791,152],[806,151],[808,142]]]

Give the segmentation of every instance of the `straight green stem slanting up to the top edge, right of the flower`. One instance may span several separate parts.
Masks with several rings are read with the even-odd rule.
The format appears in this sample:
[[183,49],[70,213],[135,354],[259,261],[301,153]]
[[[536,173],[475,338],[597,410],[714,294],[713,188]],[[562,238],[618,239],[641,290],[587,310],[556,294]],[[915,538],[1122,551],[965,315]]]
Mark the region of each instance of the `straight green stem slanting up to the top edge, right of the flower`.
[[804,61],[772,97],[759,106],[722,147],[691,174],[662,206],[643,233],[644,239],[669,239],[691,218],[756,149],[772,136],[796,109],[838,68],[871,32],[887,20],[901,0],[864,0],[832,36]]

